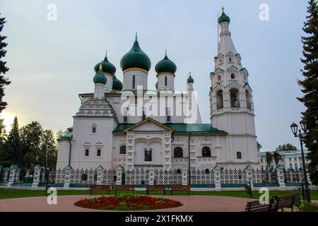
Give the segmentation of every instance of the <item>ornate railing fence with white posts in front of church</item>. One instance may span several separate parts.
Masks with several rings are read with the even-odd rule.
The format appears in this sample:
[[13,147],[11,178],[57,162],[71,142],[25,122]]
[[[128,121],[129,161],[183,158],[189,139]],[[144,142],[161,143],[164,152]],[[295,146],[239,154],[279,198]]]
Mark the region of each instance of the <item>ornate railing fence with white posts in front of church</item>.
[[1,186],[88,187],[90,184],[191,184],[215,188],[252,186],[299,186],[302,169],[0,169]]

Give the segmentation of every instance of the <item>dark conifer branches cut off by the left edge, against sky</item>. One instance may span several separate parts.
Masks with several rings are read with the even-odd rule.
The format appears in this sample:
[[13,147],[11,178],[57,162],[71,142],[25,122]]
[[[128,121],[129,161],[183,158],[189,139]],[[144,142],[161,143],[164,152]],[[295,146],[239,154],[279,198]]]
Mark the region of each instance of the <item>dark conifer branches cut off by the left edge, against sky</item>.
[[[0,13],[1,15],[1,13]],[[9,85],[11,82],[8,81],[8,78],[4,77],[4,73],[8,71],[6,67],[6,61],[1,59],[6,56],[6,47],[7,43],[4,42],[6,36],[1,35],[1,31],[4,28],[4,23],[6,23],[5,18],[0,18],[0,113],[6,108],[7,103],[3,101],[4,98],[4,86]]]

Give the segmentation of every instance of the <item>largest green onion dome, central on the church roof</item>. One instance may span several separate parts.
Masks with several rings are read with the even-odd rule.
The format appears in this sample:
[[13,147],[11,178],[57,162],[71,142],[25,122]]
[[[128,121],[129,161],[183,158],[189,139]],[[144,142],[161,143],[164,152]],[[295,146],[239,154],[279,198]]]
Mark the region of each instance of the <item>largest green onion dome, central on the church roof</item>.
[[151,69],[151,60],[149,59],[147,54],[145,54],[139,47],[137,34],[135,42],[130,51],[124,54],[124,57],[122,57],[120,66],[122,68],[122,71],[133,68],[143,69],[146,71],[149,71]]

